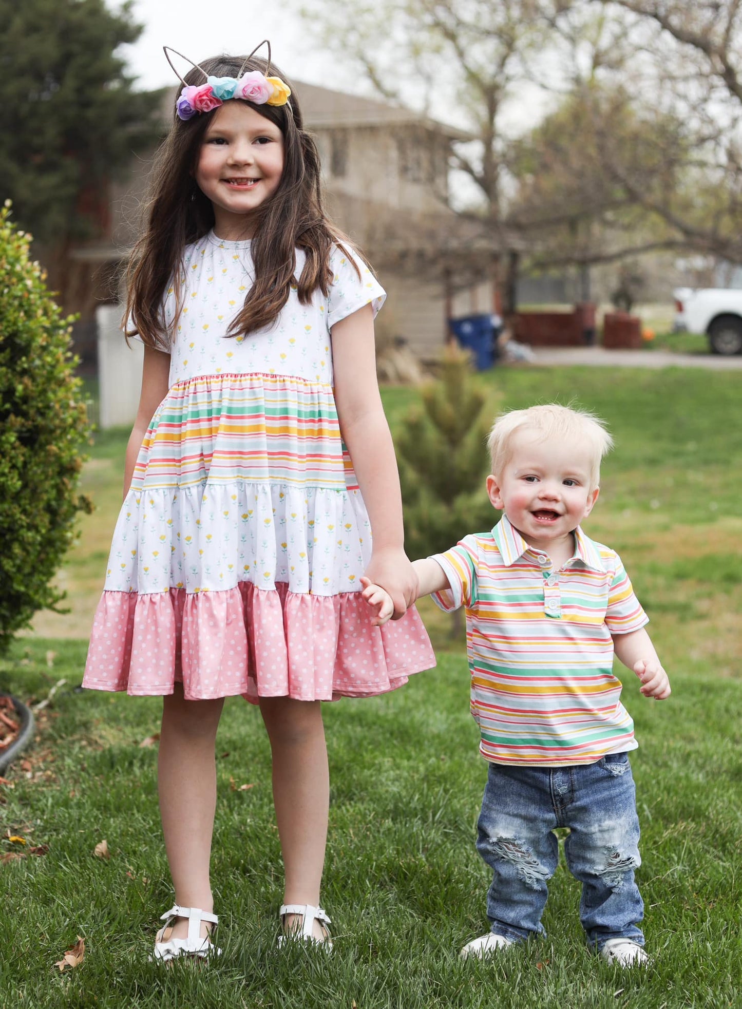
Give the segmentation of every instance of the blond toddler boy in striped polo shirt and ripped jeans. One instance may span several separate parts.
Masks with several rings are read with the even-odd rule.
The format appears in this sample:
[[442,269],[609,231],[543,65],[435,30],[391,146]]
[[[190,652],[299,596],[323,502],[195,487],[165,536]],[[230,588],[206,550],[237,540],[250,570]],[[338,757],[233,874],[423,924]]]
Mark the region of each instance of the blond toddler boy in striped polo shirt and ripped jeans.
[[[634,881],[639,822],[628,753],[637,743],[614,652],[645,697],[662,700],[670,687],[620,557],[579,528],[611,445],[597,418],[566,407],[503,415],[490,434],[487,478],[500,522],[414,562],[418,597],[465,606],[471,714],[490,762],[476,848],[493,870],[492,927],[462,957],[543,934],[558,859],[553,831],[562,826],[590,945],[622,967],[648,960]],[[390,597],[362,581],[374,623],[385,623]]]

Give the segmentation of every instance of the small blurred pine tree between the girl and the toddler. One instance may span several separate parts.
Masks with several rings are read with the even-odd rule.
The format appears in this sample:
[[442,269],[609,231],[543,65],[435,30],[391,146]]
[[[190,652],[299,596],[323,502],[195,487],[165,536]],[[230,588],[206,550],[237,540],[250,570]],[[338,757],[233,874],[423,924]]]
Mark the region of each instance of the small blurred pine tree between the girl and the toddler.
[[422,393],[395,435],[410,557],[447,550],[491,529],[496,515],[485,490],[489,397],[472,380],[468,355],[449,349],[440,380]]

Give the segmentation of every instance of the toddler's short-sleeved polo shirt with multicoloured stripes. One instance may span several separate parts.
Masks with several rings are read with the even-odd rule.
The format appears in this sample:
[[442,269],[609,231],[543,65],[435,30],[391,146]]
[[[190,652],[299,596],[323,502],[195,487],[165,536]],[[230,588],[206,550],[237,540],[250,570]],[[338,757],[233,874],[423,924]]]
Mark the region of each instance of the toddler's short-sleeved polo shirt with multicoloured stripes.
[[579,527],[574,541],[554,570],[503,516],[433,557],[450,585],[435,602],[466,608],[471,714],[480,753],[496,764],[592,764],[638,746],[611,635],[648,618],[618,554]]

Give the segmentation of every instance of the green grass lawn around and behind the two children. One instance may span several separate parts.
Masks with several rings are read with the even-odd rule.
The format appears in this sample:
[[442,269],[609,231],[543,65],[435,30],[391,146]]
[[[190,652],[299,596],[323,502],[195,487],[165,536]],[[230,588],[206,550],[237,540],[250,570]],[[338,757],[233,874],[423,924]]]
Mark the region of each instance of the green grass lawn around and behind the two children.
[[[487,928],[488,872],[473,847],[487,768],[467,710],[463,649],[429,604],[421,610],[436,670],[386,697],[325,705],[323,902],[336,935],[332,957],[276,949],[282,874],[270,751],[259,714],[232,699],[217,744],[213,856],[224,956],[209,967],[148,964],[156,917],[172,902],[156,752],[139,746],[158,727],[160,702],[73,689],[120,500],[125,435],[114,433],[94,446],[85,489],[99,511],[86,517],[62,572],[73,612],[39,618],[36,635],[19,639],[0,666],[0,689],[26,699],[69,681],[41,713],[26,760],[0,786],[4,851],[24,848],[8,835],[24,837],[26,849],[48,846],[0,864],[0,1005],[742,1005],[739,377],[533,368],[481,380],[493,410],[573,399],[605,417],[617,440],[587,530],[621,552],[673,686],[670,700],[650,702],[623,674],[640,742],[638,878],[652,968],[622,974],[588,954],[578,887],[563,867],[551,884],[547,939],[497,963],[458,961],[460,945]],[[393,423],[415,398],[385,390]],[[93,855],[103,838],[108,862]],[[61,975],[55,963],[77,935],[87,942],[85,962]]]

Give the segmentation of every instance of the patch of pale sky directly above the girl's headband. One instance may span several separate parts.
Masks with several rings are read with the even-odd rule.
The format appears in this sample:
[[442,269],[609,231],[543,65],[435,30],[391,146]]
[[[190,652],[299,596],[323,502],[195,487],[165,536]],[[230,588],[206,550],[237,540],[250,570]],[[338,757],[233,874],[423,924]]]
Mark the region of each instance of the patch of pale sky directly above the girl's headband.
[[[116,0],[109,2],[119,6]],[[122,52],[144,90],[178,83],[164,45],[198,63],[220,52],[247,53],[263,38],[271,39],[273,58],[288,78],[328,83],[327,53],[305,44],[299,16],[281,0],[135,0],[133,12],[144,31],[134,45],[122,46]],[[176,58],[174,63],[183,76],[188,64]],[[340,78],[347,81],[347,72]],[[333,74],[335,85],[337,80]]]

